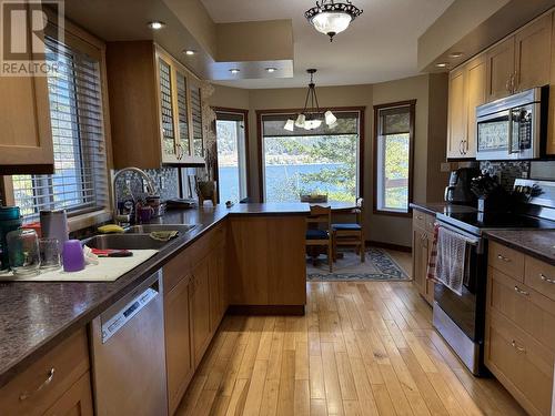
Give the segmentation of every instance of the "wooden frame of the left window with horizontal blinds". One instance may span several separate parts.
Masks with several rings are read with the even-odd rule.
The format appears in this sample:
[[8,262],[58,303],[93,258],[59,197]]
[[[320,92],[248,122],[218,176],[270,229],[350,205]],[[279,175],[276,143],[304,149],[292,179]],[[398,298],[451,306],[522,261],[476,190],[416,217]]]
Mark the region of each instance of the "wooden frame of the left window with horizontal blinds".
[[[48,19],[56,22],[57,16],[53,12],[44,8],[44,13]],[[113,154],[112,154],[112,140],[111,140],[111,126],[110,126],[110,106],[108,100],[108,85],[107,85],[107,65],[105,65],[105,42],[101,39],[89,33],[84,29],[73,24],[71,21],[64,21],[64,43],[77,49],[82,53],[87,53],[99,60],[100,69],[100,85],[101,85],[101,97],[102,97],[102,122],[103,122],[103,133],[104,133],[104,146],[105,146],[105,160],[107,160],[107,194],[108,201],[104,207],[98,210],[80,210],[72,213],[68,213],[68,224],[70,231],[77,231],[85,229],[88,226],[93,226],[95,224],[109,221],[112,217],[112,170],[113,170]],[[50,115],[50,110],[49,110]],[[13,171],[12,174],[26,174],[21,170]],[[40,173],[33,173],[40,174]],[[8,205],[14,204],[13,185],[10,175],[0,176],[0,194],[3,196],[4,203]]]

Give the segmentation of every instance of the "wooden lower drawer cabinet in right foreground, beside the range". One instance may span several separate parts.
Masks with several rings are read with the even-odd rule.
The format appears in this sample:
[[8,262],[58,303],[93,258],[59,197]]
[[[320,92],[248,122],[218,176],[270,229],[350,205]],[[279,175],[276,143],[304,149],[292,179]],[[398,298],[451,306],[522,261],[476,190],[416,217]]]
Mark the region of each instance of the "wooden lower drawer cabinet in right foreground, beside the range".
[[549,267],[500,244],[490,250],[484,361],[531,415],[552,408],[555,301],[528,284]]

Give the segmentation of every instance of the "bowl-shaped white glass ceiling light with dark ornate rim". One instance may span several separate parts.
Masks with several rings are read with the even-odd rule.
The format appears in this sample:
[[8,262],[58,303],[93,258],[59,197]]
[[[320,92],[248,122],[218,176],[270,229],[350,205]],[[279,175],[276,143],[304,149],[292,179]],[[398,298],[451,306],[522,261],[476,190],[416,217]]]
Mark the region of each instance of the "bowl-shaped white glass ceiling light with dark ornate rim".
[[359,16],[362,10],[353,6],[350,0],[345,2],[335,2],[334,0],[320,0],[316,6],[304,12],[306,20],[321,33],[333,37],[341,33]]

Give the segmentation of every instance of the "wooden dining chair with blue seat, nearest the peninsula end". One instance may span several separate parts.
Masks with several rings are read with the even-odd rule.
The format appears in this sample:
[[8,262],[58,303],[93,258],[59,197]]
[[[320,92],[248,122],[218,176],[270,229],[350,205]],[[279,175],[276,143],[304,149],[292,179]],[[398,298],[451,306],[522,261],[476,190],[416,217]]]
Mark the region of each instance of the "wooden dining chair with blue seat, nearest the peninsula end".
[[[306,217],[306,247],[326,247],[330,273],[333,271],[332,209],[312,205]],[[317,254],[313,255],[316,262]]]

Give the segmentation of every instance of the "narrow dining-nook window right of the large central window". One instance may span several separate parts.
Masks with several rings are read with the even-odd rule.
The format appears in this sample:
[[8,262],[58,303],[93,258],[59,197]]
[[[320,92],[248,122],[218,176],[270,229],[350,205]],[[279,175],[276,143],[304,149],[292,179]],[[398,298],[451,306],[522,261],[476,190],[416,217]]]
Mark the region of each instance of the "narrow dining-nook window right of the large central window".
[[411,202],[414,103],[375,108],[375,207],[407,213]]

